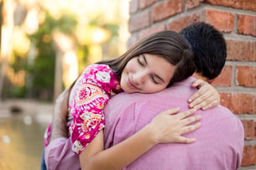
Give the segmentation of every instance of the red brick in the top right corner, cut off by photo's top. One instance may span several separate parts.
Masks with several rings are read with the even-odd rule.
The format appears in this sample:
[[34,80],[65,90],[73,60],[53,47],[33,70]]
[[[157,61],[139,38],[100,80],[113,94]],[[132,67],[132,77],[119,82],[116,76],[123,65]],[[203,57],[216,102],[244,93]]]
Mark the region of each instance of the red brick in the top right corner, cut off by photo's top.
[[206,0],[206,3],[256,11],[255,0]]

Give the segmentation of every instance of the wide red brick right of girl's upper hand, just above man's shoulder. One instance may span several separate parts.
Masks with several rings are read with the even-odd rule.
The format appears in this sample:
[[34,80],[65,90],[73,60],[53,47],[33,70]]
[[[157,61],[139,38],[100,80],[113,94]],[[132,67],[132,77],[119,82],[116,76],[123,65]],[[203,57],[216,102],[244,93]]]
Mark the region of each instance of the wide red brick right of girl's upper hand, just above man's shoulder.
[[256,94],[220,93],[221,104],[234,114],[256,114]]

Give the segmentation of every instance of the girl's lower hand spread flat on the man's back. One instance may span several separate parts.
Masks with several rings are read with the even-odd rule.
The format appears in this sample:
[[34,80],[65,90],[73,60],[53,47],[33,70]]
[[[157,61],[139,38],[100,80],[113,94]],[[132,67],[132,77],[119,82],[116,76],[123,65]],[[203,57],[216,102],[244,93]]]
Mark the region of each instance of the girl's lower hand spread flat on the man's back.
[[[183,111],[176,114],[180,108],[174,108],[162,111],[158,116],[149,123],[155,143],[180,142],[191,143],[196,142],[195,138],[181,137],[182,134],[195,131],[201,126],[201,123],[190,125],[193,122],[201,120],[201,116],[191,116],[196,109]],[[188,117],[190,116],[190,117]]]

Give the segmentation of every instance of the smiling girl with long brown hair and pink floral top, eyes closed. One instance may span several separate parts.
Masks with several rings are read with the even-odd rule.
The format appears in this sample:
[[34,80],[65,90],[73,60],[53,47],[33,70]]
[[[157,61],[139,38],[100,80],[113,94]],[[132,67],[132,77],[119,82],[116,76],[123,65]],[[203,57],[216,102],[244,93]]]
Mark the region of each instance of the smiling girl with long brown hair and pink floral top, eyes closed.
[[[112,95],[121,91],[154,93],[164,90],[192,75],[195,71],[193,63],[193,54],[185,39],[179,33],[162,31],[142,39],[118,59],[87,67],[71,87],[69,100],[72,150],[80,155],[81,167],[120,169],[157,143],[195,142],[195,139],[180,137],[200,126],[199,123],[190,125],[200,117],[185,118],[194,110],[180,113],[182,118],[179,121],[185,122],[185,131],[184,128],[172,131],[173,121],[163,120],[161,117],[166,114],[159,114],[149,126],[117,146],[103,150],[102,138],[103,108]],[[156,131],[162,128],[164,121],[170,126]],[[175,137],[176,133],[179,137]]]

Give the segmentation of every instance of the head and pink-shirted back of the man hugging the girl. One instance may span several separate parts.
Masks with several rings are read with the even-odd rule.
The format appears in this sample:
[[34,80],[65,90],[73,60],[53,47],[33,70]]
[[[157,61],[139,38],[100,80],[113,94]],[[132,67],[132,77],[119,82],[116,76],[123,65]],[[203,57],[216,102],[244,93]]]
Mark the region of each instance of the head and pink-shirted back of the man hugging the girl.
[[[217,77],[227,55],[222,36],[205,23],[194,23],[180,33],[191,44],[196,58],[194,76],[206,81]],[[188,78],[157,94],[114,96],[105,108],[105,148],[132,136],[160,111],[177,106],[180,111],[187,110],[187,99],[195,93],[193,81]],[[201,115],[201,128],[185,135],[195,137],[196,142],[159,144],[124,169],[238,169],[243,156],[241,121],[222,106],[196,111],[196,115]]]

